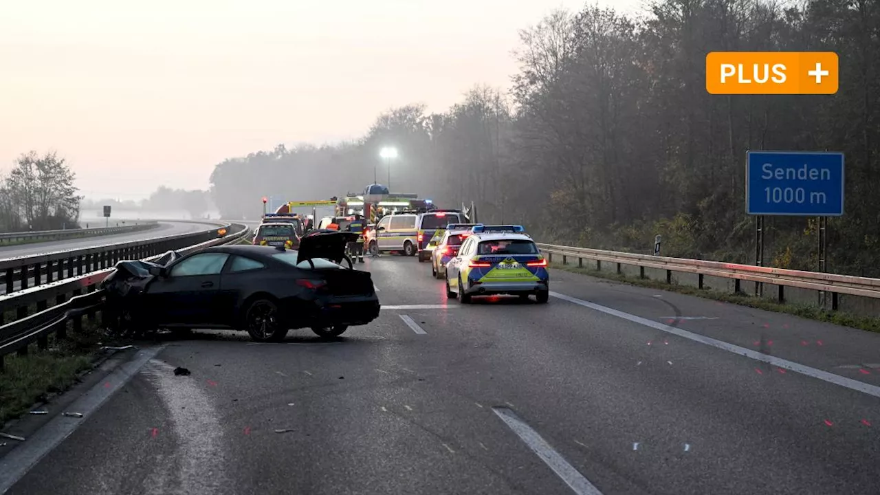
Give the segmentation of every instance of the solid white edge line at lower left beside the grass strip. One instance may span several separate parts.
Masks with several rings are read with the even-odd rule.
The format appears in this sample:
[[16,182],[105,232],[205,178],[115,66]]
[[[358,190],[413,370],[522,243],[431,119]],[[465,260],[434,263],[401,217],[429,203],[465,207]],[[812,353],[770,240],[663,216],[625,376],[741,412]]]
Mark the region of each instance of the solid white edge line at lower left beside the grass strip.
[[[40,460],[64,439],[70,436],[79,425],[83,425],[85,419],[92,416],[95,410],[114,395],[117,390],[131,380],[131,377],[140,371],[143,365],[155,357],[165,346],[143,349],[137,351],[135,357],[127,363],[123,363],[104,380],[95,384],[88,392],[70,404],[68,410],[76,410],[83,414],[83,418],[57,416],[51,419],[40,430],[31,435],[27,441],[18,445],[0,459],[0,493],[8,491],[13,484],[18,483],[27,471],[33,468]],[[110,386],[106,387],[105,384]]]

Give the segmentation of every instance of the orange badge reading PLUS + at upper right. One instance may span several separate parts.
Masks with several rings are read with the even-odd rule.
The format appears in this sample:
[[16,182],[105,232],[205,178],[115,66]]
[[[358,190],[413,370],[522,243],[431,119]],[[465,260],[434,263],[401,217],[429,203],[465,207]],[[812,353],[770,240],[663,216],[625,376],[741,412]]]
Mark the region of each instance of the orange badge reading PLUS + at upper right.
[[711,94],[834,94],[834,52],[711,52],[706,91]]

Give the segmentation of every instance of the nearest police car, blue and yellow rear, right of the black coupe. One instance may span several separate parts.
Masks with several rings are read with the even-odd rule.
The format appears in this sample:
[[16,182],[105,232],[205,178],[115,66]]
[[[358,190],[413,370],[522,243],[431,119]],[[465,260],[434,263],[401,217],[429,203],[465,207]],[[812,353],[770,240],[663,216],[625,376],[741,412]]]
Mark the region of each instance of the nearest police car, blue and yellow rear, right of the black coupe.
[[550,274],[523,225],[475,225],[446,264],[446,297],[462,304],[473,296],[517,294],[538,302],[550,297]]

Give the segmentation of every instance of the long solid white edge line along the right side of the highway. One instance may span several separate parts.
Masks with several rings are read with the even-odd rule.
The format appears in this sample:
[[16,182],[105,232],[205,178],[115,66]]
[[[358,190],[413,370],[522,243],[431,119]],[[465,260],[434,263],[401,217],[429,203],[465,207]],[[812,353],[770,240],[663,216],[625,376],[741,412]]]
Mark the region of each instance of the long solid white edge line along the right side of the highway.
[[850,378],[846,378],[840,376],[839,374],[828,373],[826,371],[822,371],[820,369],[802,365],[800,363],[796,363],[794,361],[789,361],[788,359],[776,358],[775,356],[770,356],[764,354],[763,352],[752,351],[751,349],[746,349],[744,347],[740,347],[734,344],[728,344],[726,342],[722,342],[720,340],[714,339],[708,336],[701,336],[700,334],[695,334],[693,332],[689,332],[684,329],[678,329],[677,327],[671,327],[669,325],[664,325],[663,323],[658,323],[656,321],[648,320],[647,318],[642,318],[641,316],[636,316],[634,314],[624,313],[622,311],[618,311],[611,307],[605,307],[598,305],[596,303],[592,303],[589,301],[585,301],[583,299],[573,298],[571,296],[567,296],[565,294],[561,294],[559,292],[550,292],[550,295],[554,298],[559,298],[563,300],[567,300],[568,302],[573,302],[576,305],[589,307],[590,309],[594,309],[596,311],[611,314],[612,316],[617,316],[618,318],[623,318],[624,320],[633,321],[634,323],[642,324],[646,327],[650,327],[652,329],[662,330],[666,333],[670,333],[675,336],[685,337],[686,339],[693,340],[693,342],[698,342],[700,344],[706,344],[716,349],[721,349],[722,351],[733,352],[734,354],[739,354],[741,356],[745,356],[746,358],[752,358],[756,361],[761,361],[763,363],[767,363],[774,366],[779,366],[781,368],[786,368],[796,373],[805,374],[807,376],[811,376],[818,380],[827,381],[828,383],[832,383],[834,385],[838,385],[843,388],[849,388],[851,390],[855,390],[856,392],[862,392],[863,394],[874,395],[875,397],[880,397],[880,387],[876,387],[875,385],[869,385],[868,383],[864,383],[859,380],[852,380]]

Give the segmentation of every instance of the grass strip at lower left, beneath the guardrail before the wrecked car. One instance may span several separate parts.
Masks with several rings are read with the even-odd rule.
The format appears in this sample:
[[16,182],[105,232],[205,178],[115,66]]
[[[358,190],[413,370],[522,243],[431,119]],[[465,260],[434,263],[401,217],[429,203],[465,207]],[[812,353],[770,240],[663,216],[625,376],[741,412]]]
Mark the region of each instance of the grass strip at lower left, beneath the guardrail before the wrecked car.
[[82,332],[68,329],[66,339],[50,336],[46,351],[32,344],[26,356],[5,356],[5,369],[0,372],[0,427],[34,403],[45,402],[77,383],[80,374],[92,367],[100,338],[98,325],[84,320]]

